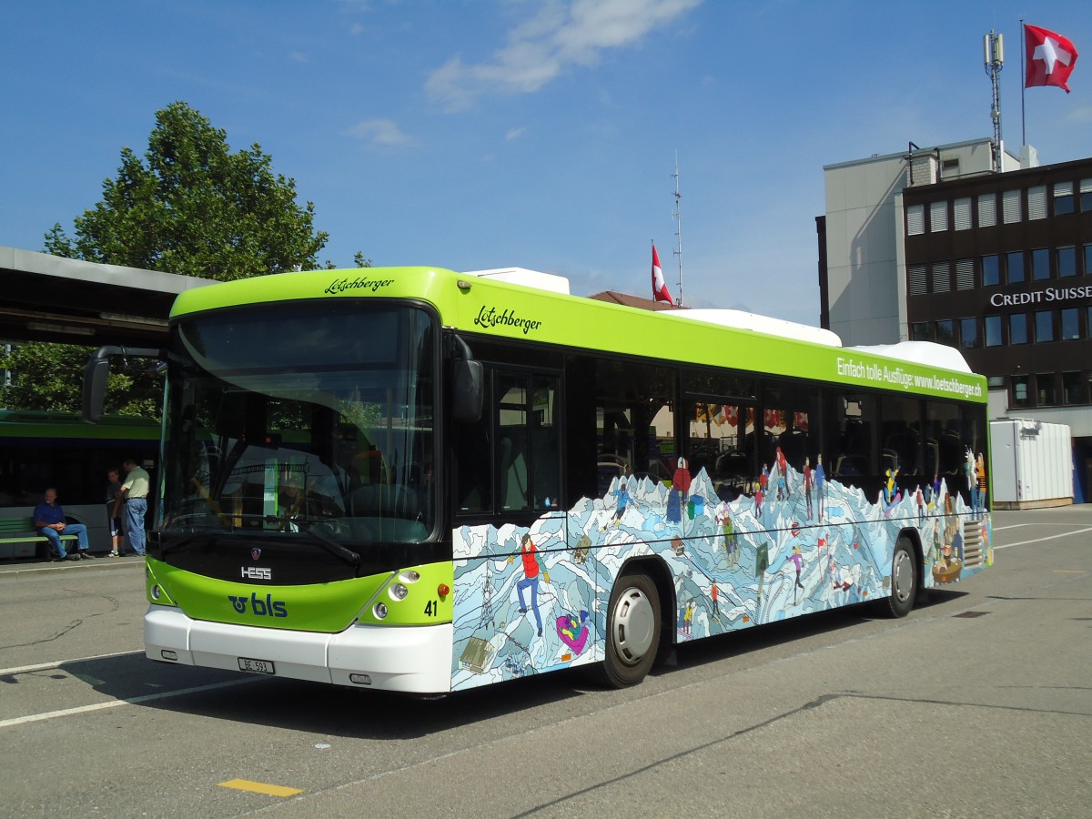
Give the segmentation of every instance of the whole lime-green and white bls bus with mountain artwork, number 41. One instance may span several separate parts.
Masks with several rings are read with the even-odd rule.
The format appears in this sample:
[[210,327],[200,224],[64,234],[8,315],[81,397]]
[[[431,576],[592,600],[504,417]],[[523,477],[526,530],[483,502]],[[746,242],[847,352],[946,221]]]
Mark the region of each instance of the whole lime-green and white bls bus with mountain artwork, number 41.
[[627,686],[992,562],[985,381],[947,347],[388,268],[189,290],[164,354],[152,660]]

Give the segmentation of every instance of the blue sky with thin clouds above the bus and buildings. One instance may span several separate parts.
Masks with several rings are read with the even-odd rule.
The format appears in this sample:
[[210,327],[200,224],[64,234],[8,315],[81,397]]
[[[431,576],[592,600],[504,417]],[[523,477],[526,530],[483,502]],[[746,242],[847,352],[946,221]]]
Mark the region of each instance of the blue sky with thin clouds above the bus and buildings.
[[1019,21],[1085,51],[1072,93],[1026,91],[1042,163],[1092,155],[1084,3],[879,0],[142,0],[10,3],[0,29],[0,245],[40,250],[120,151],[183,100],[258,142],[349,266],[524,266],[818,323],[822,166],[989,136],[982,37]]

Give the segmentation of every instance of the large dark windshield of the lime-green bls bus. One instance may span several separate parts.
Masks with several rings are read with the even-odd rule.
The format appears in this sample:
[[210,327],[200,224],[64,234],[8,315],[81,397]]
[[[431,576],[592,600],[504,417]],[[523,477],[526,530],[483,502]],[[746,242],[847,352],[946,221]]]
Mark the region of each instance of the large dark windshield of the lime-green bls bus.
[[349,299],[178,321],[162,533],[427,538],[436,337],[423,309]]

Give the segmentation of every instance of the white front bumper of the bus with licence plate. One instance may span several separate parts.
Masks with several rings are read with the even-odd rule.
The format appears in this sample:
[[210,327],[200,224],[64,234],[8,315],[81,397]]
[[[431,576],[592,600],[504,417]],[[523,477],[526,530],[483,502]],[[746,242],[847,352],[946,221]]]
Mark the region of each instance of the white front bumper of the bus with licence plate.
[[194,620],[149,606],[149,660],[411,693],[451,690],[451,624],[355,625],[335,634]]

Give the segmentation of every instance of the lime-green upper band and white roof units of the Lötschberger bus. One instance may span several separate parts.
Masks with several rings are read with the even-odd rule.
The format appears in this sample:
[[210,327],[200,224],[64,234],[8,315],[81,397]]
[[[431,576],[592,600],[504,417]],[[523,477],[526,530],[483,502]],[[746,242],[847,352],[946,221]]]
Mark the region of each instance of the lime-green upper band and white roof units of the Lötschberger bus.
[[733,310],[650,311],[572,296],[561,276],[520,268],[357,268],[282,273],[179,295],[171,320],[204,310],[331,298],[426,301],[464,333],[680,364],[731,367],[831,383],[985,403],[985,378],[958,351],[927,342],[842,347],[819,328]]

